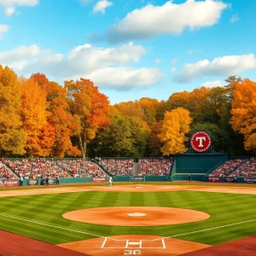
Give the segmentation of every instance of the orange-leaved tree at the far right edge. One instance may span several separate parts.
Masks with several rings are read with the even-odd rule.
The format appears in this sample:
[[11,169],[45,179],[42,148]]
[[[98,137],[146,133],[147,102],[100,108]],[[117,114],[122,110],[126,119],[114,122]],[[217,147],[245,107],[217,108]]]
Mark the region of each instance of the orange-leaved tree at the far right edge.
[[256,152],[256,83],[244,79],[236,84],[231,103],[230,124],[234,131],[244,136],[244,146],[248,151]]

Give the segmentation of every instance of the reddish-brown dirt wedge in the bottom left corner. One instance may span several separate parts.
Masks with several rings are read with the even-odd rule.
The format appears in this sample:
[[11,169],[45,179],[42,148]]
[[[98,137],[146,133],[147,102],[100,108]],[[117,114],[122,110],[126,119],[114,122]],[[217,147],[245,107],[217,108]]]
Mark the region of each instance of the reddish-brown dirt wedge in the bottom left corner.
[[0,255],[3,256],[89,256],[44,241],[0,230]]

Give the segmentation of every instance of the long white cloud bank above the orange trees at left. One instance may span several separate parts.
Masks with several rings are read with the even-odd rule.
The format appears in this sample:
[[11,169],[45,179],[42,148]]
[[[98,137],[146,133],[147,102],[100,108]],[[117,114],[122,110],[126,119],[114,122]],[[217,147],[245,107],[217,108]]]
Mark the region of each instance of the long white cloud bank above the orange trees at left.
[[119,48],[96,48],[84,44],[71,49],[64,56],[33,44],[0,52],[0,63],[12,67],[19,75],[29,76],[40,72],[59,82],[83,77],[92,79],[102,87],[127,90],[155,84],[163,77],[158,68],[123,67],[131,61],[139,61],[145,53],[143,46],[133,43]]

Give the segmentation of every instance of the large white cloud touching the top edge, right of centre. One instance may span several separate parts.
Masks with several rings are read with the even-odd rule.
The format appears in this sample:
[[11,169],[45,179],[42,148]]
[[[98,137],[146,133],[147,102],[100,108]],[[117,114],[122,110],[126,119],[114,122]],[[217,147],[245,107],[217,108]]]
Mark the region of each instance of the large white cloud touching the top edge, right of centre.
[[177,4],[168,1],[162,6],[148,4],[135,9],[108,31],[108,39],[119,42],[131,39],[154,38],[160,34],[181,34],[190,30],[213,26],[229,4],[206,0],[187,0]]

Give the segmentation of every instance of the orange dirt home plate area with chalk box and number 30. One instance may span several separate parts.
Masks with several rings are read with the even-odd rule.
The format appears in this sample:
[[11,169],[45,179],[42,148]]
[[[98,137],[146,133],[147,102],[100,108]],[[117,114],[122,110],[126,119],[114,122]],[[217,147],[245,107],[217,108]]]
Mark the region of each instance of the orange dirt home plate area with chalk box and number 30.
[[80,253],[88,253],[93,256],[173,256],[193,252],[210,246],[174,238],[164,239],[160,236],[124,235],[73,241],[60,244],[59,247],[65,247]]

